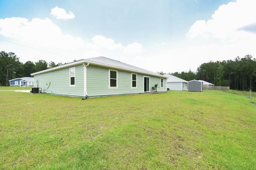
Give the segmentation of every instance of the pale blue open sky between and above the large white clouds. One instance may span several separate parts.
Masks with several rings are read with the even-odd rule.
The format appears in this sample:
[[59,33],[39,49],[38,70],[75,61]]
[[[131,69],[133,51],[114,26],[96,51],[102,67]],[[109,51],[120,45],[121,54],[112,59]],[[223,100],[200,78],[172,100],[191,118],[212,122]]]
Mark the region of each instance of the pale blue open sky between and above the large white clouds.
[[225,0],[204,1],[1,1],[0,18],[53,18],[59,6],[75,13],[74,20],[54,20],[66,33],[90,38],[105,35],[128,44],[183,38],[196,20],[207,20]]

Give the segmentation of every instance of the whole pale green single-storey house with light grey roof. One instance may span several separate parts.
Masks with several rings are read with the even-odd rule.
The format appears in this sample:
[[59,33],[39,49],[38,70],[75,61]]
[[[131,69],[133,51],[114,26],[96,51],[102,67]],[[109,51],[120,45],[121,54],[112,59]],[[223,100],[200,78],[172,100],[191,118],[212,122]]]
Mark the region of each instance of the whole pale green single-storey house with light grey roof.
[[97,97],[167,91],[166,77],[130,64],[94,57],[32,73],[34,86],[56,95]]

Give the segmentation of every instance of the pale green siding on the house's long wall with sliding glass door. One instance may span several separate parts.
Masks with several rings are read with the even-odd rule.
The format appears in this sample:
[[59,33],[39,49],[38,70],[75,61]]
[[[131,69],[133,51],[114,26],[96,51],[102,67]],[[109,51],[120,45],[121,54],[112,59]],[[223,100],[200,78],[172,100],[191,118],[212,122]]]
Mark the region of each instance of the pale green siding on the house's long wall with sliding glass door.
[[[137,88],[132,88],[131,73],[127,71],[117,70],[117,86],[118,88],[109,88],[109,69],[89,65],[87,67],[87,94],[88,96],[106,96],[106,95],[121,95],[135,94],[144,92],[143,74],[137,73]],[[150,90],[154,84],[161,84],[161,79],[158,77],[150,77]],[[164,88],[157,88],[158,91],[166,91],[166,79],[164,79]]]

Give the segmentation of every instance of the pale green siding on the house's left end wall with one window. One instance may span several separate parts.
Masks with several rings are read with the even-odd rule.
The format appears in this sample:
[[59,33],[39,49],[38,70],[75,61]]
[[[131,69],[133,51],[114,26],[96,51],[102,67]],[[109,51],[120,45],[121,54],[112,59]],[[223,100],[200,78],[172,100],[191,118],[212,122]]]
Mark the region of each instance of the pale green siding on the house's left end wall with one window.
[[[73,66],[72,66],[73,67]],[[75,86],[69,86],[69,68],[46,72],[34,76],[34,86],[41,87],[42,90],[46,89],[51,82],[49,89],[45,90],[46,93],[53,93],[57,95],[68,96],[84,96],[84,67],[83,65],[75,66]],[[47,85],[46,85],[47,84]]]

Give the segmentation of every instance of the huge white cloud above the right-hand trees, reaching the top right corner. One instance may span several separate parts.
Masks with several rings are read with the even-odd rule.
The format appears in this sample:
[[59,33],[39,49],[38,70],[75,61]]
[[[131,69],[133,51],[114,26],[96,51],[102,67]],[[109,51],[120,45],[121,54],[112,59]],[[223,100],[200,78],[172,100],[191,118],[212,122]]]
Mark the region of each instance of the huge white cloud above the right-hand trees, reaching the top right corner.
[[256,57],[255,6],[254,0],[237,0],[219,6],[210,20],[198,20],[191,25],[183,52],[178,55],[191,61],[193,70],[211,60],[229,60],[247,54]]

